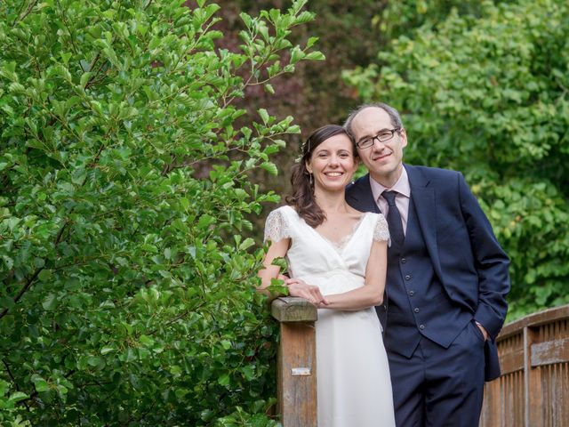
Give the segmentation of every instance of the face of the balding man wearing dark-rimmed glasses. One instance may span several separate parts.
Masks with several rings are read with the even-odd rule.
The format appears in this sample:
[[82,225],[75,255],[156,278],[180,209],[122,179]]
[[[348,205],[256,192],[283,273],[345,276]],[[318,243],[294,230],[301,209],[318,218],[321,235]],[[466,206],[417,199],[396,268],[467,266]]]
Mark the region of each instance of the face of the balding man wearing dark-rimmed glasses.
[[[388,113],[378,107],[370,107],[357,113],[351,125],[356,142],[394,127]],[[403,149],[406,145],[407,135],[405,129],[401,129],[389,141],[375,140],[372,147],[358,148],[357,153],[369,169],[372,178],[385,187],[391,188],[403,171]]]

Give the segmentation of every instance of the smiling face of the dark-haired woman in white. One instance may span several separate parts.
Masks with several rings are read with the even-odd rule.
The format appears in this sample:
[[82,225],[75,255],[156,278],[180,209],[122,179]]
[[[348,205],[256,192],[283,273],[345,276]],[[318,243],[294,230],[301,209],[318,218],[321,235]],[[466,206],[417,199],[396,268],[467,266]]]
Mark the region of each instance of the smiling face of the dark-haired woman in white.
[[357,169],[352,141],[341,133],[322,141],[306,162],[315,190],[344,190]]

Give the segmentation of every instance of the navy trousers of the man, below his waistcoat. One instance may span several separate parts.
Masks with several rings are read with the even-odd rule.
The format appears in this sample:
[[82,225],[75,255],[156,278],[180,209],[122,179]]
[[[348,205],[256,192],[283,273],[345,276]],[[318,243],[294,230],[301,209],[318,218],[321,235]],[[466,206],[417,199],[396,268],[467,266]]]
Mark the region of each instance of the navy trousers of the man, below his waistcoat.
[[484,345],[484,336],[471,321],[448,349],[425,337],[411,359],[388,348],[397,426],[477,427]]

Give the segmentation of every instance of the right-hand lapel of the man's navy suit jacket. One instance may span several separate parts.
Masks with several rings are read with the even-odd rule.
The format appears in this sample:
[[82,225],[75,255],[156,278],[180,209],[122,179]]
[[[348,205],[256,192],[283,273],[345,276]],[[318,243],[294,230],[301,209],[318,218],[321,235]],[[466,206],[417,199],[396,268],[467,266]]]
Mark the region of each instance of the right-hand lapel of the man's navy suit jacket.
[[419,219],[419,226],[425,245],[433,268],[437,273],[441,283],[443,274],[441,270],[441,263],[438,257],[437,249],[437,204],[435,203],[435,190],[429,187],[429,178],[425,177],[421,171],[413,166],[405,165],[405,170],[409,176],[409,185],[411,187],[411,197],[415,205],[415,213]]

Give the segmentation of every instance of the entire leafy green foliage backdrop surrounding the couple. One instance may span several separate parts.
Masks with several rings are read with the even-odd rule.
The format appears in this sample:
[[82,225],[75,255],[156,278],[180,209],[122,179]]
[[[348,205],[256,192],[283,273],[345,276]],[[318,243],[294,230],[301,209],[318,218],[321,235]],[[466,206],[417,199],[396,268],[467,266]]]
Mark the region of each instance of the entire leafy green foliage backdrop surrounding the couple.
[[275,425],[254,248],[363,101],[465,173],[509,319],[569,302],[565,1],[181,3],[0,4],[3,424]]

